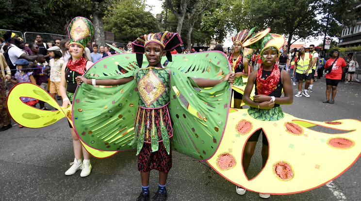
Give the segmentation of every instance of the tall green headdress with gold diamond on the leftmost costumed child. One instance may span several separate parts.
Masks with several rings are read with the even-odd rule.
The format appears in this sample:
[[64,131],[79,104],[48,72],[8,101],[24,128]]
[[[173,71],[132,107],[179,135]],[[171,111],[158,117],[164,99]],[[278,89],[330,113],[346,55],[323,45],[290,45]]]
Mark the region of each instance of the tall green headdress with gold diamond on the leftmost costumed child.
[[69,45],[78,44],[85,50],[86,44],[94,35],[93,23],[85,17],[74,17],[67,27]]

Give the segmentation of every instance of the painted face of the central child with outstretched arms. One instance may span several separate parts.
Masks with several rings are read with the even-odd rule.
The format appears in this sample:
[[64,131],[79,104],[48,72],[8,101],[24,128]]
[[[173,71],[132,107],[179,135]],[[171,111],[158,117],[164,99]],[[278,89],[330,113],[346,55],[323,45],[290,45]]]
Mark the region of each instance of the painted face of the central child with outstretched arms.
[[155,42],[150,42],[145,48],[145,54],[151,67],[162,67],[162,56],[165,56],[162,46]]

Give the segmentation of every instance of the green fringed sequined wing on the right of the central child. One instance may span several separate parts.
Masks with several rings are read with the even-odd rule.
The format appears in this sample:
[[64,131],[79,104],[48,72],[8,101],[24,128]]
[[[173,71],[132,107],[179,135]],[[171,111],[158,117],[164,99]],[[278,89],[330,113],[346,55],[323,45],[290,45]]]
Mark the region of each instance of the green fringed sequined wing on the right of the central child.
[[217,150],[224,134],[230,83],[222,82],[198,91],[189,77],[222,79],[230,72],[228,59],[218,51],[177,54],[172,59],[167,65],[171,70],[172,148],[197,160],[207,160]]

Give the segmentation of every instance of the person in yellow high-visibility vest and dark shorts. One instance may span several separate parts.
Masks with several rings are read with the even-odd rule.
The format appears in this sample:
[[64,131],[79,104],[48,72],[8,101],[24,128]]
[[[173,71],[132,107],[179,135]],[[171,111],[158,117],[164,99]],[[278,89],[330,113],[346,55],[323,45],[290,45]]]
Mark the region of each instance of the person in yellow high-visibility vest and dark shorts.
[[[296,76],[296,80],[298,81],[298,93],[295,97],[301,97],[302,95],[305,97],[310,97],[307,93],[307,89],[310,86],[311,73],[312,73],[312,55],[310,53],[305,54],[305,47],[300,47],[298,49],[298,56],[295,58],[295,66],[292,76]],[[296,74],[295,74],[296,72]],[[305,89],[302,90],[302,82],[306,81]]]

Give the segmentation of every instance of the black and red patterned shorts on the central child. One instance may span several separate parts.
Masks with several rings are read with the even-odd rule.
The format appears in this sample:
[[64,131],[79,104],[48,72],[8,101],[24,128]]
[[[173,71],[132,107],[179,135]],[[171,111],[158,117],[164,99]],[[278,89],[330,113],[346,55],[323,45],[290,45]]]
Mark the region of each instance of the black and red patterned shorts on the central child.
[[[169,141],[171,141],[170,138]],[[172,146],[171,142],[170,146]],[[148,172],[156,169],[168,173],[170,168],[172,168],[172,148],[170,148],[168,155],[163,142],[159,142],[159,149],[154,152],[152,152],[150,143],[144,143],[142,150],[138,154],[138,171]]]

